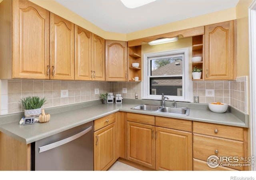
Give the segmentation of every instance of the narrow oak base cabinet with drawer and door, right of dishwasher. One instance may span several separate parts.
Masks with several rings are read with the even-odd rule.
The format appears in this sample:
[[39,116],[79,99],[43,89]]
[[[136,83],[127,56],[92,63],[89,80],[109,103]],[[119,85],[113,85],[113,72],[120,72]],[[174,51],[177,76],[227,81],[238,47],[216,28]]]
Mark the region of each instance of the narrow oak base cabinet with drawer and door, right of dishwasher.
[[94,170],[107,170],[116,161],[116,114],[94,120]]

